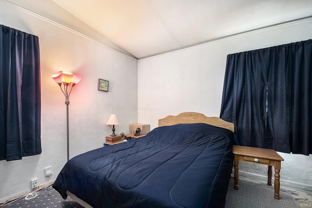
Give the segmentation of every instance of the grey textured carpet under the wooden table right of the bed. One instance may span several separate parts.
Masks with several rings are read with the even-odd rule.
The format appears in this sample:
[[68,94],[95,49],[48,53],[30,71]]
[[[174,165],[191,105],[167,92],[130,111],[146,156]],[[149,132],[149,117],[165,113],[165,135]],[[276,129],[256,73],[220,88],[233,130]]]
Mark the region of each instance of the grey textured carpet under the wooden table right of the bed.
[[292,194],[280,189],[280,199],[274,199],[274,185],[266,182],[258,184],[239,180],[239,189],[234,189],[234,178],[231,178],[226,197],[225,208],[298,208]]

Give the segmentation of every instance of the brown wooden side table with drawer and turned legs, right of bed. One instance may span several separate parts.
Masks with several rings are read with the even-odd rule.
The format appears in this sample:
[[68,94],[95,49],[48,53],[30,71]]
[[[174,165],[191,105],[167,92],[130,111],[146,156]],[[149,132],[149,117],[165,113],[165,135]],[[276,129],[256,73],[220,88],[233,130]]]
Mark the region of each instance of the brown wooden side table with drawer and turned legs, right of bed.
[[274,166],[274,198],[279,199],[279,172],[284,159],[274,150],[233,146],[234,153],[234,189],[238,190],[238,162],[245,161],[268,165],[268,185],[272,186],[272,166]]

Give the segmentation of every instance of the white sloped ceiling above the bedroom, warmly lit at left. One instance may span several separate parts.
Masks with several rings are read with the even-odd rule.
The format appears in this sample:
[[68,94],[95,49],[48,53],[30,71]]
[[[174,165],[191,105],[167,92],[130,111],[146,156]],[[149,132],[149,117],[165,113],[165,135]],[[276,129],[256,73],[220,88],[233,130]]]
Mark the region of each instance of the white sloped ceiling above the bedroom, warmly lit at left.
[[312,0],[5,0],[138,59],[312,16]]

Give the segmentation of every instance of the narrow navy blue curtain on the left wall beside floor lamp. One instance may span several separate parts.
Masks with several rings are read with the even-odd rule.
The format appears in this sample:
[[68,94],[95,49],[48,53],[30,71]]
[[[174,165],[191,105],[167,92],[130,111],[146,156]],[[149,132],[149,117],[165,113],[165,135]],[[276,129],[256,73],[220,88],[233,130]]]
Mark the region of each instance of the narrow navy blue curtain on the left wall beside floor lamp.
[[39,39],[0,25],[0,160],[41,153]]

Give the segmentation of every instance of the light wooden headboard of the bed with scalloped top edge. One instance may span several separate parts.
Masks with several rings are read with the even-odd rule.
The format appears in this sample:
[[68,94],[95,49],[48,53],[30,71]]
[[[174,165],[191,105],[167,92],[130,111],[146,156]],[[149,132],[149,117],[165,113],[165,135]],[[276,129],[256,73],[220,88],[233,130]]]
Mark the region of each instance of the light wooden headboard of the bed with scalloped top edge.
[[192,123],[205,123],[212,126],[228,129],[234,132],[234,123],[227,122],[218,117],[207,117],[202,113],[195,112],[185,112],[178,115],[168,115],[167,117],[158,120],[158,127]]

